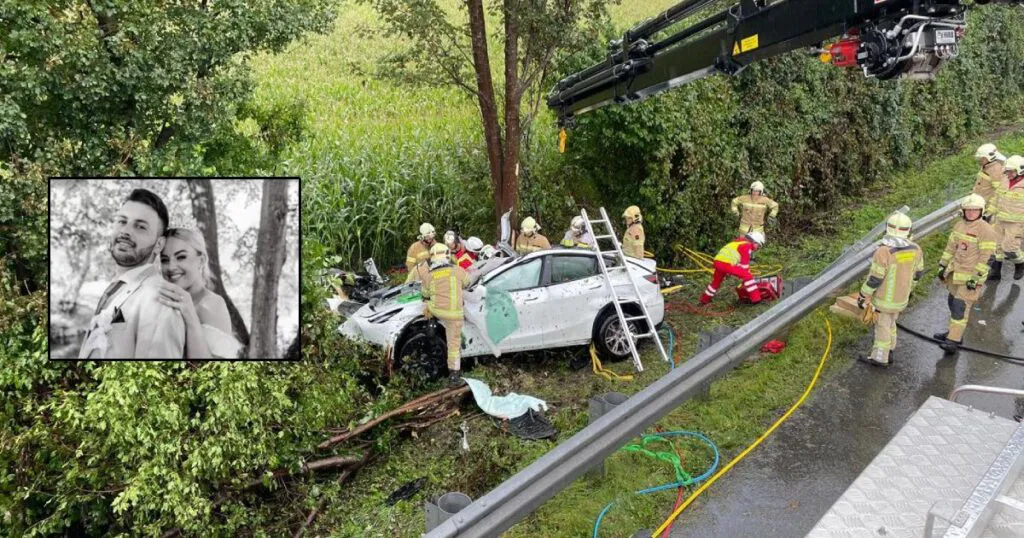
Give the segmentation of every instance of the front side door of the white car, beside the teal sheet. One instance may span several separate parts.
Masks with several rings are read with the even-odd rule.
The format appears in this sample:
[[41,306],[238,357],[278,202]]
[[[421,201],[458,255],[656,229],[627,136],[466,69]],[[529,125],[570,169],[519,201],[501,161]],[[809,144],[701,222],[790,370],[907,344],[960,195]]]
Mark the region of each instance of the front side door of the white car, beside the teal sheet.
[[505,351],[539,349],[544,347],[543,339],[547,290],[541,286],[544,256],[539,256],[502,271],[483,284],[487,296],[508,293],[515,306],[518,327],[500,342],[498,347]]

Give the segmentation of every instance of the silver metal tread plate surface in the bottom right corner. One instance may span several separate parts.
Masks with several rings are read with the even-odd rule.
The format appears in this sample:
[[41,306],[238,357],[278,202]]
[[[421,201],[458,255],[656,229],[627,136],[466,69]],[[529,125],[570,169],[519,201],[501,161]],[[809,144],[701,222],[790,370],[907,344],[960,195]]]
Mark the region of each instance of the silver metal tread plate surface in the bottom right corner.
[[959,506],[1017,425],[930,397],[807,536],[923,536],[929,509]]

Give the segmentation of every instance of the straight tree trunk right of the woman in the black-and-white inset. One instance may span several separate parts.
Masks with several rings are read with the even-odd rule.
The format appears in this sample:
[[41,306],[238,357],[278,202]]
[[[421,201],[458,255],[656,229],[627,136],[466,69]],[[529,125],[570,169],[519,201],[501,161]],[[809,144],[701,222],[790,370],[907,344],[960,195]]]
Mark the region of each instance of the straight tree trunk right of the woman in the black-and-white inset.
[[256,272],[253,275],[251,359],[280,359],[278,350],[278,283],[285,265],[285,219],[288,217],[289,181],[263,180]]

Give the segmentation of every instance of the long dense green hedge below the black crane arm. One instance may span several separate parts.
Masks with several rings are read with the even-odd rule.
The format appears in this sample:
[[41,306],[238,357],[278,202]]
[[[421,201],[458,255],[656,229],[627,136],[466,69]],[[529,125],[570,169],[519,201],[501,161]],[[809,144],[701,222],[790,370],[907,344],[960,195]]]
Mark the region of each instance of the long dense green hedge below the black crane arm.
[[650,246],[713,248],[733,233],[729,200],[760,179],[782,204],[781,232],[843,223],[828,208],[880,178],[1017,121],[1024,105],[1024,13],[979,8],[961,55],[933,82],[865,80],[798,52],[631,107],[580,118],[563,177],[593,182],[618,211],[646,211]]

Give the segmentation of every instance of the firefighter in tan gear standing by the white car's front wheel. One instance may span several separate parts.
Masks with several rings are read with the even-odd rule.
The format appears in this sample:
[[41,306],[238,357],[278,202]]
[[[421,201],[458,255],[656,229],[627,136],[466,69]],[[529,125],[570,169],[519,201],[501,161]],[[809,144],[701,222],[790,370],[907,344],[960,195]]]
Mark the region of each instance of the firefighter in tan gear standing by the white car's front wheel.
[[430,272],[424,277],[423,288],[420,290],[423,300],[427,301],[423,315],[428,319],[436,318],[444,327],[451,387],[464,383],[460,347],[462,325],[465,321],[463,289],[469,286],[469,274],[452,263],[452,253],[446,245],[436,244],[430,247]]

